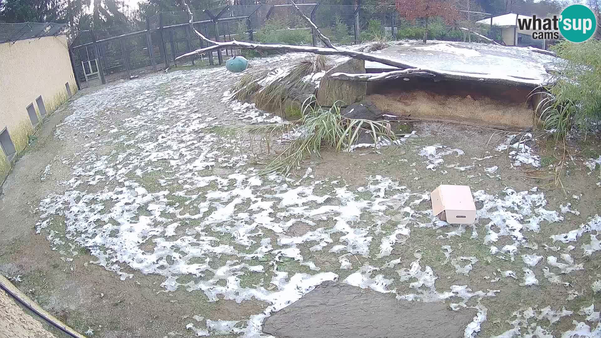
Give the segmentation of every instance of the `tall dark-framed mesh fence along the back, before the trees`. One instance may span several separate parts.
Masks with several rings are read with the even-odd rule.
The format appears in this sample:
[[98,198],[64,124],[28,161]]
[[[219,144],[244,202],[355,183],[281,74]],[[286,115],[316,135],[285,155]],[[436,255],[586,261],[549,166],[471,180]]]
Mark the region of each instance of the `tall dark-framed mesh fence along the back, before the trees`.
[[[210,10],[194,11],[194,29],[215,41],[257,41],[288,45],[321,46],[313,29],[290,5],[238,2]],[[301,11],[338,45],[365,40],[415,39],[424,35],[423,22],[401,17],[394,6],[299,4]],[[454,25],[430,20],[429,39],[478,41],[483,31],[475,20],[486,13],[463,11]],[[148,17],[137,25],[82,31],[70,45],[73,68],[80,87],[132,78],[148,72],[183,65],[222,64],[234,55],[257,55],[256,51],[222,48],[175,60],[180,55],[208,47],[189,24],[185,11],[168,11]],[[474,31],[477,34],[471,34]],[[494,38],[494,37],[492,37]]]

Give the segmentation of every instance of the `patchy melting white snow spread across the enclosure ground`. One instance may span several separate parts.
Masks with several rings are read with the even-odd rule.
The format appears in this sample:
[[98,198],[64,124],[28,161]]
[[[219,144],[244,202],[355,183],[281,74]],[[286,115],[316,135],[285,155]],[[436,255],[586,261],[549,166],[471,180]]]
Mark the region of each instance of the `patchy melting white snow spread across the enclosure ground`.
[[[186,292],[207,309],[260,304],[227,321],[218,310],[191,313],[166,336],[261,336],[265,318],[326,280],[471,310],[465,338],[601,336],[599,179],[582,161],[573,161],[583,167],[573,179],[581,188],[564,200],[517,179],[540,165],[531,149],[510,139],[482,149],[490,134],[448,135],[430,124],[398,147],[326,154],[298,176],[254,176],[261,164],[246,144],[211,131],[279,120],[220,103],[237,76],[166,73],[70,103],[53,138],[77,146],[44,163],[39,179],[68,174],[32,211],[52,254],[67,267],[91,255],[84,269],[102,266],[118,275],[117,287],[152,280],[151,298]],[[429,192],[441,183],[471,186],[475,224],[433,217]],[[80,326],[114,334],[91,319]]]

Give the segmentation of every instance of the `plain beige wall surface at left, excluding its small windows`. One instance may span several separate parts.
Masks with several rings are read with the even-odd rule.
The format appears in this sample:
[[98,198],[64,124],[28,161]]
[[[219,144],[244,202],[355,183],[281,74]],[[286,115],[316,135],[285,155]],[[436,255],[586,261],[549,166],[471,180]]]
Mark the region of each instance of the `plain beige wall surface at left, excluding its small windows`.
[[[72,94],[77,92],[66,35],[0,43],[0,74],[0,132],[8,129],[19,153],[34,133],[27,106],[34,104],[41,122],[35,102],[38,96],[41,95],[50,114],[69,98],[66,82]],[[0,183],[9,169],[10,163],[0,150]]]

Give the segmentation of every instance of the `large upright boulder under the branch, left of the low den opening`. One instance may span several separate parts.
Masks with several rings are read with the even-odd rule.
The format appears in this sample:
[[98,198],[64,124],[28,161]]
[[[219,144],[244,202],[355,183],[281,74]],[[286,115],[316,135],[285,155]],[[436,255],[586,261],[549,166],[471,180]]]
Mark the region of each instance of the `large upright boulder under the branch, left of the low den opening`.
[[351,105],[361,101],[367,94],[367,84],[357,81],[333,80],[329,76],[333,73],[365,73],[365,61],[350,59],[326,72],[319,82],[317,89],[317,103],[322,106],[332,106],[338,102],[340,106]]

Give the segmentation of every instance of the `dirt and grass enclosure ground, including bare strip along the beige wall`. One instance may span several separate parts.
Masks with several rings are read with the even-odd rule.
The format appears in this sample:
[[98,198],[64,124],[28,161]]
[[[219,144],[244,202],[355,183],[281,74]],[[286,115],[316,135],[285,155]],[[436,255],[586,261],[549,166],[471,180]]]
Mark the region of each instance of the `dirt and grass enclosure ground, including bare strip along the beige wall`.
[[[282,58],[280,62],[287,60]],[[440,184],[469,185],[472,192],[484,190],[501,199],[508,195],[504,190],[507,187],[520,192],[546,185],[548,179],[526,179],[525,170],[531,167],[513,167],[514,160],[508,159],[505,151],[495,150],[505,142],[504,135],[467,126],[418,123],[413,126],[417,137],[401,146],[325,153],[323,158],[305,161],[298,177],[287,182],[263,178],[261,188],[252,188],[255,183],[246,175],[264,160],[255,161],[248,156],[248,150],[240,150],[236,141],[216,141],[210,132],[210,127],[219,124],[274,120],[252,108],[221,102],[224,91],[236,79],[237,76],[225,75],[224,69],[183,70],[118,82],[91,92],[84,90],[73,97],[44,124],[37,141],[26,149],[2,185],[0,272],[44,309],[75,330],[88,331],[94,337],[189,337],[204,333],[251,336],[257,331],[250,327],[261,319],[257,315],[270,307],[280,308],[273,292],[286,291],[281,297],[297,295],[286,289],[292,281],[284,282],[286,276],[291,278],[297,273],[322,280],[331,276],[326,273],[333,273],[338,281],[361,275],[361,287],[394,289],[386,296],[404,300],[410,300],[410,295],[416,301],[446,295],[447,298],[437,299],[460,312],[466,308],[469,313],[484,314],[484,319],[474,318],[481,327],[474,330],[479,337],[510,330],[514,327],[510,324],[516,318],[514,312],[522,316],[528,307],[536,315],[525,320],[522,316],[523,321],[517,324],[522,334],[541,327],[560,337],[576,330],[573,321],[586,322],[592,331],[594,320],[587,321],[587,316],[579,312],[599,299],[599,293],[591,288],[599,279],[599,252],[593,250],[585,255],[586,245],[593,245],[591,237],[595,232],[591,230],[591,236],[582,233],[577,240],[565,243],[550,237],[579,229],[599,212],[599,168],[588,174],[590,170],[583,164],[601,154],[598,143],[579,144],[579,153],[573,150],[567,159],[567,170],[561,174],[565,192],[529,192],[543,192],[544,209],[557,210],[563,221],[542,220],[538,232],[501,232],[498,241],[490,243],[484,239],[487,218],[477,221],[473,229],[448,224],[440,227],[429,218],[431,206],[427,199],[412,202],[409,216],[402,210],[409,201],[419,199],[415,195],[426,194],[429,198],[427,194]],[[445,155],[444,164],[430,170],[426,168],[427,158],[419,152],[435,144],[447,146],[439,151],[460,149],[465,154]],[[558,163],[551,143],[531,144],[532,153],[542,155],[543,168]],[[484,170],[495,165],[498,169],[493,173]],[[313,171],[301,179],[306,168]],[[381,177],[367,179],[376,175]],[[388,188],[382,188],[380,194],[374,186],[388,182],[386,178],[394,184],[386,183]],[[138,189],[138,195],[129,192],[128,186]],[[309,190],[295,195],[295,202],[284,205],[289,196],[278,194],[299,186]],[[166,198],[160,194],[165,189],[169,191]],[[245,200],[248,194],[242,191],[248,193],[249,189],[255,195]],[[349,201],[341,195],[344,189],[356,201],[373,203],[358,207],[361,215],[350,230],[320,230],[347,220],[345,213],[352,214],[350,209],[338,216],[310,212],[347,205]],[[174,194],[178,191],[182,193]],[[389,207],[394,198],[400,198],[395,194],[401,192],[411,196],[407,204],[403,205],[403,201]],[[198,197],[204,194],[217,197]],[[331,197],[325,197],[326,194]],[[126,198],[127,202],[119,204],[119,198]],[[377,198],[382,199],[382,204]],[[259,207],[257,203],[261,201],[275,210]],[[517,209],[523,205],[519,203]],[[571,203],[579,215],[561,214],[560,204],[566,203]],[[128,214],[127,207],[131,205],[135,209]],[[377,205],[384,207],[378,210]],[[482,201],[477,202],[477,208],[483,208]],[[517,214],[517,209],[512,211]],[[264,221],[249,210],[264,210],[264,217],[271,221]],[[103,218],[109,213],[122,214],[111,216],[110,220]],[[200,218],[193,218],[195,214]],[[252,214],[251,218],[248,214]],[[220,215],[225,217],[219,218]],[[526,224],[526,218],[534,215],[532,212],[520,220]],[[128,227],[124,219],[139,228]],[[400,226],[403,220],[406,224]],[[282,227],[286,222],[294,226]],[[142,223],[153,225],[142,227]],[[276,223],[284,228],[283,232]],[[246,228],[249,224],[254,226],[250,230]],[[410,235],[404,233],[404,225]],[[144,230],[138,233],[136,229]],[[495,225],[492,229],[499,230]],[[392,243],[390,254],[381,256],[383,242],[397,230],[400,238],[395,236],[397,241]],[[477,231],[478,236],[474,238],[472,231]],[[278,242],[290,238],[296,244]],[[263,239],[270,239],[271,252]],[[203,246],[203,241],[214,246]],[[314,248],[318,243],[326,245],[323,250]],[[171,250],[176,244],[178,249]],[[346,249],[329,251],[339,244]],[[446,245],[450,245],[452,253],[445,251]],[[518,248],[491,253],[492,245],[499,249],[507,245]],[[289,248],[293,250],[285,251]],[[367,252],[361,251],[364,248]],[[202,252],[197,253],[197,249]],[[264,256],[258,254],[263,249]],[[349,254],[342,257],[344,250]],[[566,254],[574,260],[565,260],[567,265],[581,264],[582,269],[560,273],[558,265],[549,263],[549,257],[567,258]],[[302,259],[297,258],[299,255]],[[521,255],[542,256],[540,263],[528,266],[537,284],[519,285],[527,277]],[[470,257],[477,259],[472,262],[471,271],[460,273],[452,265],[459,262],[463,267],[471,262]],[[395,259],[398,262],[391,261]],[[345,260],[351,268],[341,269]],[[231,267],[236,263],[232,262],[248,266],[234,271]],[[253,270],[257,266],[261,266],[258,272]],[[430,267],[433,275],[427,273]],[[548,268],[568,284],[558,284],[551,275],[543,277]],[[513,271],[516,277],[503,277],[505,271]],[[372,274],[380,277],[371,277]],[[436,281],[432,279],[432,287],[415,286],[415,280],[407,274],[412,278],[421,276],[426,286],[428,278],[434,276]],[[499,279],[492,282],[496,278]],[[353,284],[351,280],[347,283]],[[444,293],[449,290],[453,293],[451,298]],[[490,290],[498,290],[495,297]],[[251,294],[253,297],[249,297]],[[545,310],[547,306],[550,310]],[[594,310],[599,311],[598,306],[594,304]],[[572,313],[561,312],[563,307]],[[215,325],[210,326],[212,323]]]

